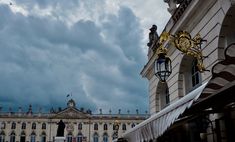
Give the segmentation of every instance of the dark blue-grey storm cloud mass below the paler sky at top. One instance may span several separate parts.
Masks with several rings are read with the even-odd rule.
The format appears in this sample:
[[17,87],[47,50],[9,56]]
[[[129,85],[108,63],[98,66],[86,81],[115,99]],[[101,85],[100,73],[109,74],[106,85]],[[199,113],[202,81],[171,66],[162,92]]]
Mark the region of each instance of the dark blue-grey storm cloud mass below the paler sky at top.
[[94,111],[147,109],[139,76],[142,31],[130,9],[103,15],[99,26],[85,20],[67,26],[49,16],[13,13],[6,5],[0,13],[0,105],[65,107],[72,92],[78,107]]

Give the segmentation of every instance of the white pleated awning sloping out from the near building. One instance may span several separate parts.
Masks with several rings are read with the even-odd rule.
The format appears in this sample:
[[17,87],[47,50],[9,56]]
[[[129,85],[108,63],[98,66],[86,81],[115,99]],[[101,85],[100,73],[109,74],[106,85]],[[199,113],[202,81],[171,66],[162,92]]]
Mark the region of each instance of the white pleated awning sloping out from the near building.
[[170,106],[152,115],[136,127],[122,135],[128,142],[143,142],[156,139],[169,128],[175,120],[198,99],[207,83],[204,83]]

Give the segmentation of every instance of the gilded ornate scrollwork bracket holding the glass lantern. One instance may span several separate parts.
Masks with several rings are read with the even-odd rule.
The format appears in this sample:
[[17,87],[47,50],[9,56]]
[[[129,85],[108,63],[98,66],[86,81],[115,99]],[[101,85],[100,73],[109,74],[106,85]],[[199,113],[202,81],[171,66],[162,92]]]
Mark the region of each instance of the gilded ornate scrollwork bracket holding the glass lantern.
[[203,60],[206,57],[202,55],[201,50],[201,44],[206,40],[203,40],[199,33],[194,38],[191,38],[191,35],[186,31],[179,31],[175,35],[170,35],[167,32],[163,32],[160,35],[160,39],[158,41],[158,48],[156,51],[158,55],[166,55],[167,49],[163,47],[163,44],[167,40],[169,40],[174,45],[174,47],[176,47],[184,54],[196,58],[197,67],[200,72],[208,71],[205,69],[205,66],[203,64]]

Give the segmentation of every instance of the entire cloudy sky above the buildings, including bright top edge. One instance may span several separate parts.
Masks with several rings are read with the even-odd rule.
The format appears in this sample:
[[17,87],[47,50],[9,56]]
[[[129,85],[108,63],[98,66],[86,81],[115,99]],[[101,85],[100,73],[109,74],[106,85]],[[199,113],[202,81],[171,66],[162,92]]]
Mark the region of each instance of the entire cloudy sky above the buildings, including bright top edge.
[[148,110],[148,29],[163,0],[0,0],[0,106]]

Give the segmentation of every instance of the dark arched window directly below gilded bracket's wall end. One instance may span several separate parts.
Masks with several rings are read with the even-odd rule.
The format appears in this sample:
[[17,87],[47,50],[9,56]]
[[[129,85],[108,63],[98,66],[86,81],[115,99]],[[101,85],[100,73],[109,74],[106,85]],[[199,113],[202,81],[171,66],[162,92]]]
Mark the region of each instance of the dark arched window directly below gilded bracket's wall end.
[[194,60],[192,63],[192,69],[191,69],[191,75],[192,75],[192,87],[194,88],[196,85],[200,83],[200,72],[197,67],[197,61]]

